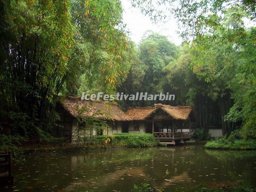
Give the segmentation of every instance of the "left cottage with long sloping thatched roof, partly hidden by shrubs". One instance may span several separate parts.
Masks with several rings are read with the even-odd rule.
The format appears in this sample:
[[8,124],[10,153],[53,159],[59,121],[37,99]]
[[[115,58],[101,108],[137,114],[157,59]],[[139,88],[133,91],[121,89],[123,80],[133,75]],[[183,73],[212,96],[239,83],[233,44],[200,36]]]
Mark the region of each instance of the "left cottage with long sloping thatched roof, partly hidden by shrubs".
[[[79,118],[105,119],[108,127],[102,130],[101,134],[104,135],[121,133],[123,122],[132,120],[114,104],[107,104],[100,100],[81,100],[79,97],[67,97],[61,100],[56,106],[56,112],[60,114],[60,121],[57,123],[62,126],[53,128],[52,135],[55,137],[73,136],[81,127],[78,122]],[[97,133],[92,130],[89,134]]]

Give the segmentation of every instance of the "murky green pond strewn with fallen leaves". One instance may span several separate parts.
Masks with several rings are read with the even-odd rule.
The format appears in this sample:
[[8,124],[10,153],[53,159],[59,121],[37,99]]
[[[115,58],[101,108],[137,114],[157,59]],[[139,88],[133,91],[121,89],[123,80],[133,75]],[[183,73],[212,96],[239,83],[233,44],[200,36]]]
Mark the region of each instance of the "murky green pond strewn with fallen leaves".
[[170,191],[202,182],[256,181],[256,151],[212,150],[204,143],[38,155],[15,165],[14,186],[0,191],[130,191],[150,183]]

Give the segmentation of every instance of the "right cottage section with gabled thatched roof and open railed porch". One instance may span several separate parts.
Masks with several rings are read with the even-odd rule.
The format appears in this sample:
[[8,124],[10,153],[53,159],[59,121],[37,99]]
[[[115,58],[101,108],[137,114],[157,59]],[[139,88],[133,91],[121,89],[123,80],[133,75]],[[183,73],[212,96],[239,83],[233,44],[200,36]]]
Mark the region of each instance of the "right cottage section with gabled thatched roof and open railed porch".
[[129,108],[125,114],[132,119],[129,122],[129,132],[134,132],[138,127],[140,132],[143,130],[153,133],[155,137],[165,141],[190,139],[191,122],[196,121],[191,106],[155,104],[155,107]]

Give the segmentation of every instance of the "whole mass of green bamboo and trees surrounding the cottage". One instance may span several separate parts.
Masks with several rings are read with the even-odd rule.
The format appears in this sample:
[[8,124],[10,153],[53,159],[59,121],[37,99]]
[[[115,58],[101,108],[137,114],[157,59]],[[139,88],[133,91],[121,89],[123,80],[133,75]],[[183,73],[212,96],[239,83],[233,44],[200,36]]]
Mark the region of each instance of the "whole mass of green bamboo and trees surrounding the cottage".
[[[256,137],[255,1],[131,0],[152,21],[172,12],[184,44],[147,32],[129,41],[119,0],[0,2],[0,131],[49,136],[58,95],[169,92],[170,105],[192,105],[197,128]],[[167,6],[171,4],[172,6]],[[122,101],[151,106],[155,101]],[[143,145],[143,144],[142,144]]]

